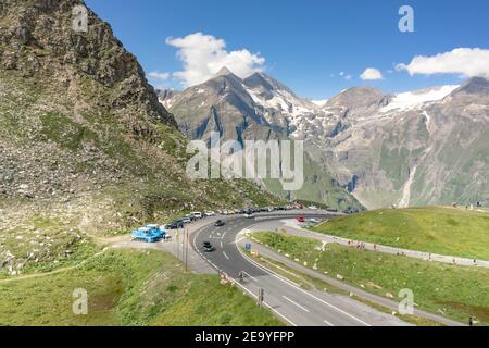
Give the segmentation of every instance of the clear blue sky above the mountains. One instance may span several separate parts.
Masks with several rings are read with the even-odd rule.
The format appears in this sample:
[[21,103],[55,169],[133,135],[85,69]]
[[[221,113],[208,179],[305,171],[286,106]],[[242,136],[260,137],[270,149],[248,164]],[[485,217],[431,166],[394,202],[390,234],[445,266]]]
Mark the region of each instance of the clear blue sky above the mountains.
[[[489,49],[487,0],[86,0],[86,3],[112,25],[148,74],[160,72],[161,77],[168,77],[150,78],[163,87],[181,89],[185,85],[173,75],[185,67],[176,55],[178,47],[168,45],[167,38],[185,38],[195,33],[224,40],[224,54],[246,49],[264,59],[259,67],[298,95],[312,99],[329,98],[352,86],[374,86],[396,92],[460,84],[462,77],[487,72],[485,66],[469,72],[464,67],[471,65],[467,60],[478,59],[479,65],[485,64],[487,55],[481,54]],[[401,18],[398,11],[404,4],[414,9],[414,33],[401,33],[398,28]],[[456,48],[481,48],[484,52],[459,52],[440,63],[423,61],[412,66],[413,71],[429,72],[413,76],[396,70],[397,64],[409,64],[416,55],[434,57]],[[453,63],[453,59],[457,61]],[[464,66],[453,69],[454,64]],[[489,65],[489,60],[486,64]],[[441,73],[437,66],[443,66],[438,69]],[[378,70],[383,79],[363,80],[360,75],[367,67]],[[346,78],[348,75],[351,79]]]

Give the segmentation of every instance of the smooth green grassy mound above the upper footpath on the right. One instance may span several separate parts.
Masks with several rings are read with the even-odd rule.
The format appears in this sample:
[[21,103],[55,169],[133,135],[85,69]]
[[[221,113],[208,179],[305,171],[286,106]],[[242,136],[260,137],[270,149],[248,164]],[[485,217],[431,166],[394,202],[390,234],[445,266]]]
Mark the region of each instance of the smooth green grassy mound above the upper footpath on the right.
[[314,231],[426,252],[489,260],[489,214],[450,208],[379,210]]

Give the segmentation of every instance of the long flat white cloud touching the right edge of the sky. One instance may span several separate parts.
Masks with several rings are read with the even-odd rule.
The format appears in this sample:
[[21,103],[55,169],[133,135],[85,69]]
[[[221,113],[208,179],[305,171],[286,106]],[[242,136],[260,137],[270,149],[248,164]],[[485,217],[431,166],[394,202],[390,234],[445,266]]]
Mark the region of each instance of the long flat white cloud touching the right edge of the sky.
[[461,74],[465,77],[489,78],[489,50],[480,48],[456,48],[437,55],[416,55],[410,64],[398,64],[410,75]]

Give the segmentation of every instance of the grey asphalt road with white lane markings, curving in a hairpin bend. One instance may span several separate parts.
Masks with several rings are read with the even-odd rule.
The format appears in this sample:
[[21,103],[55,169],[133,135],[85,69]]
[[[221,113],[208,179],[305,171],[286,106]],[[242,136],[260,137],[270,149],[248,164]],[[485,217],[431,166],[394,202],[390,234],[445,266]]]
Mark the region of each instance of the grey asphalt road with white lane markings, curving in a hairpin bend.
[[[331,219],[331,214],[299,213],[309,219]],[[211,265],[239,284],[250,296],[258,298],[264,290],[263,304],[286,323],[293,326],[384,326],[403,325],[399,319],[380,313],[348,296],[321,291],[306,291],[291,282],[271,273],[244,256],[239,241],[242,232],[262,221],[294,219],[291,214],[259,215],[255,219],[235,216],[225,220],[224,226],[214,224],[198,229],[192,235],[192,247]],[[210,241],[213,252],[204,252],[202,245]],[[242,281],[239,279],[243,275]]]

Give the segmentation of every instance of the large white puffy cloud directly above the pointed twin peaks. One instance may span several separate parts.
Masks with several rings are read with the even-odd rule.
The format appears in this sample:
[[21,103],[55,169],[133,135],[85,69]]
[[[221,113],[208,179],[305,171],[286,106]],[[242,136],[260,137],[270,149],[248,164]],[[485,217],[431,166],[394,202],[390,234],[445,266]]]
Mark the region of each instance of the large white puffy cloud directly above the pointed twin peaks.
[[247,49],[229,52],[223,39],[202,33],[167,38],[166,44],[178,49],[177,57],[181,60],[184,70],[173,76],[184,87],[204,83],[224,66],[243,78],[262,71],[265,65],[265,59],[259,53],[251,53]]

